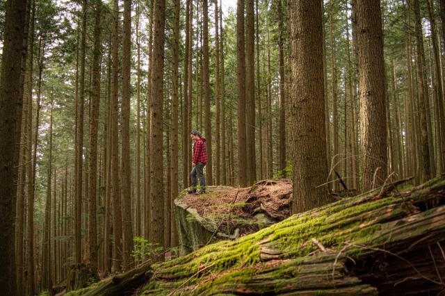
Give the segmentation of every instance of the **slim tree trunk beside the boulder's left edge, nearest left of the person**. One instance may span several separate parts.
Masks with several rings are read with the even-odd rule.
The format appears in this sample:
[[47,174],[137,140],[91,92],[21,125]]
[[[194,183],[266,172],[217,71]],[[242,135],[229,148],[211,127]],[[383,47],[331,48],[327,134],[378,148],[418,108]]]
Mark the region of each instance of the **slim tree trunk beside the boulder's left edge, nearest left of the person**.
[[[172,130],[171,130],[171,148],[170,148],[170,167],[171,167],[171,197],[170,211],[173,213],[175,206],[174,200],[178,195],[178,90],[179,90],[179,11],[181,9],[181,1],[175,0],[175,16],[173,22],[173,69],[172,69]],[[176,223],[172,215],[170,224],[170,245],[176,247],[179,243]]]

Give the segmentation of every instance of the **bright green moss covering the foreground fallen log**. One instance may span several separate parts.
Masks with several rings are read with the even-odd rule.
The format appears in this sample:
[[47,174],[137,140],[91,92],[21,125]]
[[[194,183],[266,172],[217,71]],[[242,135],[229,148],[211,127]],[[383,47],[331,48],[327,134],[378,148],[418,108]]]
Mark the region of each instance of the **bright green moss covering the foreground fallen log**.
[[[336,254],[346,243],[370,247],[381,244],[391,236],[392,229],[385,228],[388,221],[414,213],[414,207],[410,204],[424,200],[428,190],[440,186],[445,186],[445,180],[434,179],[423,186],[426,189],[414,190],[405,197],[380,197],[381,190],[376,189],[306,213],[298,213],[235,241],[225,240],[207,245],[186,256],[154,265],[155,275],[145,286],[145,291],[159,293],[161,290],[181,288],[177,290],[177,294],[181,294],[183,288],[189,288],[184,292],[215,295],[222,293],[220,288],[226,283],[236,286],[252,277],[277,279],[277,287],[286,285],[289,283],[287,279],[295,281],[298,277],[301,262],[317,256],[312,255],[318,249],[312,238]],[[396,224],[391,225],[394,227]],[[263,247],[276,249],[280,258],[290,260],[266,268],[261,263]],[[348,247],[344,252],[357,258],[365,251],[358,247]],[[255,291],[273,293],[270,287],[268,289]]]

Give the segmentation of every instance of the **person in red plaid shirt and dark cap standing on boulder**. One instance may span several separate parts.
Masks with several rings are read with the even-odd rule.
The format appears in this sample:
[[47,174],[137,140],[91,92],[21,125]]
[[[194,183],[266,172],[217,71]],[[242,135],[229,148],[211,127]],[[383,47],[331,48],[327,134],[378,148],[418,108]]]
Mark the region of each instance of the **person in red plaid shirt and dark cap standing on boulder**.
[[192,157],[192,171],[191,181],[192,186],[188,189],[189,194],[196,193],[197,178],[200,179],[200,193],[206,191],[206,180],[204,179],[204,166],[207,163],[207,151],[206,151],[206,139],[202,138],[199,131],[192,131],[190,134],[195,143],[193,144],[193,157]]

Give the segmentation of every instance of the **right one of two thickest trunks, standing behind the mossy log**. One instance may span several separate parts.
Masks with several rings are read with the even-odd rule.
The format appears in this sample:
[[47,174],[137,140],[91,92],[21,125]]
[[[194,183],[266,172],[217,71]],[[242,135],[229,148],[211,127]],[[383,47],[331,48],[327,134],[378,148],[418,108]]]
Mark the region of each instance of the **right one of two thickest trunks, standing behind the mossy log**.
[[387,178],[386,83],[380,0],[357,0],[357,51],[362,139],[362,187]]

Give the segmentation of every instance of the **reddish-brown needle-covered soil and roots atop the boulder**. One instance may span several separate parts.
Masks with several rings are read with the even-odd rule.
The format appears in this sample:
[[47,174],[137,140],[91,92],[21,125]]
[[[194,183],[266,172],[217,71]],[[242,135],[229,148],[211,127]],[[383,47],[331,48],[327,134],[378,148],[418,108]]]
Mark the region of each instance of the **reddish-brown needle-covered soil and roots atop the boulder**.
[[238,229],[243,236],[289,217],[291,193],[291,179],[264,180],[247,188],[186,195],[183,200],[201,217],[214,220],[218,231],[230,235]]

